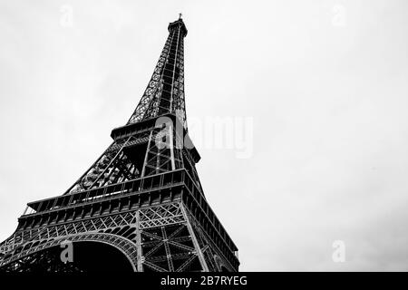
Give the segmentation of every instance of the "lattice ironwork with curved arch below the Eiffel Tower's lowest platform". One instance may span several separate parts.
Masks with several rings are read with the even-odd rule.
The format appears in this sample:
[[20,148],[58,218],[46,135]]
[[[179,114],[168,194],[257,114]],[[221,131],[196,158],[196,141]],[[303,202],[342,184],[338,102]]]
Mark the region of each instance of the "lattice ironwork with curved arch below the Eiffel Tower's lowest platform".
[[[218,270],[210,245],[182,203],[141,208],[124,214],[39,227],[0,259],[0,271],[23,271],[30,256],[65,241],[96,241],[118,248],[135,271]],[[205,244],[205,245],[204,245]],[[25,261],[25,262],[24,262]],[[66,271],[72,271],[68,267]]]

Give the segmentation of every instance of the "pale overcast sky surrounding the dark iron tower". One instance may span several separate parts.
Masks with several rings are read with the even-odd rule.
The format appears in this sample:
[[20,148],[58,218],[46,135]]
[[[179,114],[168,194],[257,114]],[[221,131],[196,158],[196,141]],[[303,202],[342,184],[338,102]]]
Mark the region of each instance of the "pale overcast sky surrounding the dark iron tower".
[[[408,270],[404,0],[0,0],[0,239],[111,143],[180,12],[199,177],[240,270]],[[199,141],[212,117],[253,120],[248,158]]]

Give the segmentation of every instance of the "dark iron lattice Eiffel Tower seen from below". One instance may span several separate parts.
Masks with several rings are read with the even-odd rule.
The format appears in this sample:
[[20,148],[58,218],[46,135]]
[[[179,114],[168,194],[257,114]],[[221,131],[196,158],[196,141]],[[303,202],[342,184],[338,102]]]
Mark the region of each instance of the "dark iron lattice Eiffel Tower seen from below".
[[181,15],[168,30],[130,120],[112,130],[112,144],[63,195],[28,203],[0,244],[0,272],[238,271],[238,248],[195,167]]

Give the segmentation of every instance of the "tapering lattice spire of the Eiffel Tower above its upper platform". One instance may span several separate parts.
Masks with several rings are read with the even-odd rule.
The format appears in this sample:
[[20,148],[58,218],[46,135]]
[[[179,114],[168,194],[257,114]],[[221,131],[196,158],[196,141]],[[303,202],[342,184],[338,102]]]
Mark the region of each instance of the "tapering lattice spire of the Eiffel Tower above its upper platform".
[[128,125],[164,114],[175,114],[187,130],[184,101],[184,37],[187,28],[181,16],[168,26],[169,36],[141,102]]

